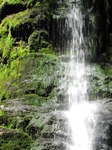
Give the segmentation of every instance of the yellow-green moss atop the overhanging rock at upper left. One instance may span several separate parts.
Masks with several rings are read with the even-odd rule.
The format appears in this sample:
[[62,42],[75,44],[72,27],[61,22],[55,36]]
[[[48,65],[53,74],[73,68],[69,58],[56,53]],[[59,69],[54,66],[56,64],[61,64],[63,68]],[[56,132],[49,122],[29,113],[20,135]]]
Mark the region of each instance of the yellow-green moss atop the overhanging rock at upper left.
[[9,26],[11,30],[19,30],[21,28],[20,25],[23,27],[26,25],[26,30],[30,30],[30,26],[33,28],[33,24],[37,20],[35,17],[39,13],[40,9],[32,8],[6,17],[0,24],[0,35],[7,35]]

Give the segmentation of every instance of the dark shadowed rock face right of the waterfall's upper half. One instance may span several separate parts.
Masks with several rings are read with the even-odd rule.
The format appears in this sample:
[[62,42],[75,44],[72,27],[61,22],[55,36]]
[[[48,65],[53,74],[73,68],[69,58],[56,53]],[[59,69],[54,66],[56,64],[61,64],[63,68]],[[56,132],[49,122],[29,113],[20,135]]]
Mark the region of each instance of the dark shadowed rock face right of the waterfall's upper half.
[[95,60],[98,62],[111,61],[112,49],[112,2],[102,1],[83,1],[85,8],[89,9],[90,21],[92,23],[91,36],[94,41],[92,46]]

